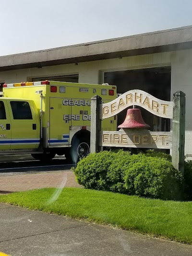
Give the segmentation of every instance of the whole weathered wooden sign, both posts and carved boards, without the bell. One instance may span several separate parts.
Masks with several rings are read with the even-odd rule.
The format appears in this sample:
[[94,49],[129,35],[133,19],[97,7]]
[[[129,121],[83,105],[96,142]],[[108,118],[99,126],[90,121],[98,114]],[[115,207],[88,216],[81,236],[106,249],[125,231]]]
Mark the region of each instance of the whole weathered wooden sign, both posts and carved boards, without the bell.
[[[112,117],[130,106],[141,106],[159,117],[173,119],[172,132],[150,132],[147,129],[121,128],[101,131],[101,120]],[[172,164],[184,173],[185,94],[178,91],[173,102],[157,99],[141,90],[131,90],[111,102],[101,104],[94,96],[91,102],[91,153],[103,146],[137,148],[172,148]]]

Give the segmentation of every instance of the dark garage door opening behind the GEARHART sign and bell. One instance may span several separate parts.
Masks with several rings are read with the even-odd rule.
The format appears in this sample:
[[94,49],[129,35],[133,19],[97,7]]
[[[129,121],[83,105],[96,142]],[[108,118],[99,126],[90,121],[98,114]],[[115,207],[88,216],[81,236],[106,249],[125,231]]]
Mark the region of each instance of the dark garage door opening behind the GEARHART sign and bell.
[[[170,101],[171,67],[149,68],[139,70],[114,71],[104,73],[104,83],[117,85],[117,93],[129,90],[143,90],[156,98]],[[153,115],[141,107],[144,122],[151,126],[151,131],[170,131],[170,120]],[[118,125],[125,120],[127,109],[118,114]]]

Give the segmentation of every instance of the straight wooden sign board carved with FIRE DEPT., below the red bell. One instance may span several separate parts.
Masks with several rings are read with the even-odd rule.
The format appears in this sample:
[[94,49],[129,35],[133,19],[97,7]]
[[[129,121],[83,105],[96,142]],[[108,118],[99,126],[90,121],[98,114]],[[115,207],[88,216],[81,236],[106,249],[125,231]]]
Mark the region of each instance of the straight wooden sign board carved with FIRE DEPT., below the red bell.
[[172,148],[171,132],[150,132],[146,129],[121,129],[99,132],[99,146]]

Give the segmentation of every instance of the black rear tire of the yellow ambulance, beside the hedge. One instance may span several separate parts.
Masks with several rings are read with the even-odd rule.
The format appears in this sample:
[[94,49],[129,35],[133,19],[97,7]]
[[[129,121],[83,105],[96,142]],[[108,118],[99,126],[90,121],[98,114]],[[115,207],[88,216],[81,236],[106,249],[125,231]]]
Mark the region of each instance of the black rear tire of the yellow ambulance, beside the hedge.
[[72,146],[65,152],[65,158],[76,164],[80,158],[86,157],[90,153],[90,140],[76,137],[72,141]]

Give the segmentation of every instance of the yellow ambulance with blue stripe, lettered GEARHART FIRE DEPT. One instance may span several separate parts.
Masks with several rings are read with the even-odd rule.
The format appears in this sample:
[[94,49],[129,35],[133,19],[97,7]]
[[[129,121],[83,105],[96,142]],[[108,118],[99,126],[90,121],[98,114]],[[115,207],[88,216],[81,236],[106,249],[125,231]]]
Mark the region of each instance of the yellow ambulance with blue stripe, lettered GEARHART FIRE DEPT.
[[[56,81],[3,85],[0,98],[0,155],[31,154],[39,160],[65,155],[77,162],[90,152],[91,97],[117,97],[114,85]],[[116,118],[102,130],[116,131]]]

